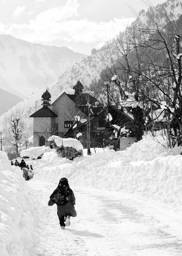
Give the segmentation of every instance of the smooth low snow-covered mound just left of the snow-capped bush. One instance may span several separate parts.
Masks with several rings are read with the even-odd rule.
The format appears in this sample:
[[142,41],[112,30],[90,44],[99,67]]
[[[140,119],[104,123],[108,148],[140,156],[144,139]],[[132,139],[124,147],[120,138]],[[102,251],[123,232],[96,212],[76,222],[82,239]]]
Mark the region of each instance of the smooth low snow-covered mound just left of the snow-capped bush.
[[22,150],[20,153],[20,157],[29,157],[31,159],[37,159],[45,153],[46,147],[32,147]]

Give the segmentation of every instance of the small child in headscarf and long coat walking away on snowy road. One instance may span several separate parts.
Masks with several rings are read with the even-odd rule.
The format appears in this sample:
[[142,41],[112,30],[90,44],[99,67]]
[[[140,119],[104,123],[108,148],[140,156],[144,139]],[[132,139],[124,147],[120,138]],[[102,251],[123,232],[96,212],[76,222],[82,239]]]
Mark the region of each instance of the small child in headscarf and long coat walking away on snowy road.
[[50,196],[48,206],[52,206],[53,204],[57,205],[59,224],[61,229],[64,230],[65,225],[66,227],[70,225],[70,216],[76,217],[76,211],[74,209],[75,196],[66,178],[60,179],[57,188]]

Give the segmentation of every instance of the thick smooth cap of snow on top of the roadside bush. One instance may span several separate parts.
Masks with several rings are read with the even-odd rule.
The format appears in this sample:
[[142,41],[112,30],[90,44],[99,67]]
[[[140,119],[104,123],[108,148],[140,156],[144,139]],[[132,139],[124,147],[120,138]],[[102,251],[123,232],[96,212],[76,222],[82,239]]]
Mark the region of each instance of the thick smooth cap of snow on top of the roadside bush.
[[59,136],[52,135],[51,137],[48,138],[48,141],[54,141],[58,147],[73,147],[78,151],[83,149],[83,145],[80,141],[78,141],[78,139],[61,138]]

